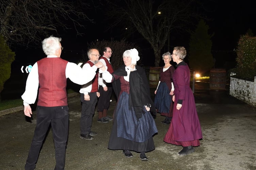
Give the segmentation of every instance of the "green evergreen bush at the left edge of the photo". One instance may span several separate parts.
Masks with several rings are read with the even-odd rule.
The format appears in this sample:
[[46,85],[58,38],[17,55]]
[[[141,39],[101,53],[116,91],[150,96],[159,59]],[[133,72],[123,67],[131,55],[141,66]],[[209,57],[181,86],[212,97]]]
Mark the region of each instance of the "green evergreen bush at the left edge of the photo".
[[5,81],[11,76],[11,64],[15,60],[14,57],[15,53],[12,52],[3,36],[0,35],[0,92],[3,90]]

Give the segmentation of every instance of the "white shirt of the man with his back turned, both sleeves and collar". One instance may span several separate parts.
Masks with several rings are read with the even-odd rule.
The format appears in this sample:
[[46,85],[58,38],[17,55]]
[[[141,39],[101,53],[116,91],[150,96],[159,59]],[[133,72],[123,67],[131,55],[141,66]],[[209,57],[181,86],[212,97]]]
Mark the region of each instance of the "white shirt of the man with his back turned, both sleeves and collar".
[[[57,56],[48,55],[47,57],[50,58],[50,57],[57,57]],[[96,74],[96,70],[97,70],[96,66],[82,70],[82,68],[77,64],[68,62],[66,66],[66,78],[69,78],[72,82],[76,84],[83,85],[94,78]],[[37,66],[37,63],[35,63],[28,75],[25,92],[21,96],[21,98],[23,99],[24,106],[35,103],[38,86],[39,86],[38,66]]]

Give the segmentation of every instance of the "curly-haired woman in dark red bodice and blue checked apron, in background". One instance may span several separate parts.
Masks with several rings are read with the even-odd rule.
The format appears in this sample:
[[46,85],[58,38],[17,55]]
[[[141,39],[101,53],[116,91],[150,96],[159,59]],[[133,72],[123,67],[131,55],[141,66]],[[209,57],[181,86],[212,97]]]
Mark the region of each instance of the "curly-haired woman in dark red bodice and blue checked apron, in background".
[[155,105],[157,112],[161,116],[165,116],[165,119],[162,121],[164,124],[170,124],[173,116],[173,73],[174,66],[170,64],[172,61],[172,56],[170,52],[166,52],[162,55],[164,66],[160,70],[160,80],[155,91]]

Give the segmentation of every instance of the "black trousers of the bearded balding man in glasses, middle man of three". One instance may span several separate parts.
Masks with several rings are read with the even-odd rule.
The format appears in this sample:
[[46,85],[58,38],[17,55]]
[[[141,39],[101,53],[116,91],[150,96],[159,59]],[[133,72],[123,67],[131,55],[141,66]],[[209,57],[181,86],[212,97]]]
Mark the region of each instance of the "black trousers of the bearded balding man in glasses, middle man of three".
[[84,94],[81,94],[80,100],[82,102],[82,112],[80,119],[81,134],[86,134],[91,131],[95,105],[97,103],[96,92],[89,93],[90,100],[84,100]]

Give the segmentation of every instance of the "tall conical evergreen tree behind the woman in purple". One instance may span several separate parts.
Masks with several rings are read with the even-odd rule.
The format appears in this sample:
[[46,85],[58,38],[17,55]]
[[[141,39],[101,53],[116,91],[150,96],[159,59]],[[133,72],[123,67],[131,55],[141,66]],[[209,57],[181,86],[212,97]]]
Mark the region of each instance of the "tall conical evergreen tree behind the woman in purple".
[[201,19],[197,28],[192,32],[189,43],[189,66],[193,71],[205,73],[214,63],[211,53],[213,35],[208,34],[209,26]]

